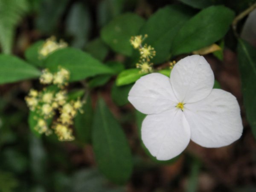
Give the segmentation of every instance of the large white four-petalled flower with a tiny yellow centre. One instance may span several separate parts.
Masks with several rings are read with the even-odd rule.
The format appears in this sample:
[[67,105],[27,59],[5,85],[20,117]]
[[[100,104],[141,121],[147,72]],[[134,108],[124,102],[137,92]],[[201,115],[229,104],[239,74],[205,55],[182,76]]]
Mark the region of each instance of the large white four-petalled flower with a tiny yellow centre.
[[211,67],[199,55],[181,59],[170,79],[151,73],[136,81],[128,100],[147,114],[142,140],[154,157],[172,159],[190,139],[213,148],[241,137],[243,126],[236,98],[224,90],[212,89],[213,84]]

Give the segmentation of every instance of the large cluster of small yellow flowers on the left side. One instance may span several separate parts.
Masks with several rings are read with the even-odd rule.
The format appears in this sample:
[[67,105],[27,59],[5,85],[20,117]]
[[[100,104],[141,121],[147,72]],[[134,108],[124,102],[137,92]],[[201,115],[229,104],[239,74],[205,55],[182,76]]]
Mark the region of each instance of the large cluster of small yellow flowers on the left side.
[[[81,108],[84,104],[80,99],[68,99],[65,87],[68,85],[69,77],[69,71],[61,67],[56,73],[44,69],[40,82],[49,86],[42,91],[31,89],[25,97],[30,111],[35,112],[34,119],[37,121],[35,130],[46,135],[55,131],[60,141],[74,140],[70,127],[78,111],[82,113]],[[49,120],[54,117],[50,127]]]

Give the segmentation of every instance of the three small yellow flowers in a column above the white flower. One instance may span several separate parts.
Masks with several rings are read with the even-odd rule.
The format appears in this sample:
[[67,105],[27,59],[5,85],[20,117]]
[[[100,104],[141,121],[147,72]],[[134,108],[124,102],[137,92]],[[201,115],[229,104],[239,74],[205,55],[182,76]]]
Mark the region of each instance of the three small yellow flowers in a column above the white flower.
[[148,35],[144,35],[144,37],[142,35],[137,35],[132,36],[130,39],[130,43],[134,49],[138,49],[140,52],[140,61],[136,64],[136,67],[140,68],[141,73],[152,72],[153,63],[150,63],[150,60],[156,55],[154,47],[151,47],[151,45],[142,44],[147,37]]

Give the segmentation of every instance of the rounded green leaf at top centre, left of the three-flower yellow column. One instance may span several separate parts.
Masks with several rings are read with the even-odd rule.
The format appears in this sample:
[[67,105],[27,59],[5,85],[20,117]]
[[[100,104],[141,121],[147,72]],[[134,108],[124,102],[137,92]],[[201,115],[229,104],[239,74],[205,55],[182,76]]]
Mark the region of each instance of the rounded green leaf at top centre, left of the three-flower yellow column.
[[129,40],[137,35],[143,23],[143,18],[136,14],[119,15],[102,29],[101,38],[115,52],[131,56],[133,47]]

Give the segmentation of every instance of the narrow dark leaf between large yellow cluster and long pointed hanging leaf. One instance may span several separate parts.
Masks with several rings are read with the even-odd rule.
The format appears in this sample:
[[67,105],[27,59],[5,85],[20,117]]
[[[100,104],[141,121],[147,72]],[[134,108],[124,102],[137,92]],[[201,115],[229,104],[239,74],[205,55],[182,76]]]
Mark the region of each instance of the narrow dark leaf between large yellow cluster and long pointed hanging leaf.
[[93,106],[90,97],[88,97],[82,110],[83,113],[78,113],[74,119],[76,138],[82,143],[91,143]]

